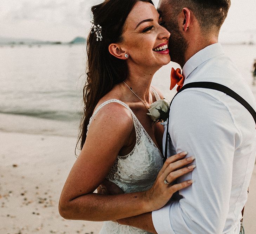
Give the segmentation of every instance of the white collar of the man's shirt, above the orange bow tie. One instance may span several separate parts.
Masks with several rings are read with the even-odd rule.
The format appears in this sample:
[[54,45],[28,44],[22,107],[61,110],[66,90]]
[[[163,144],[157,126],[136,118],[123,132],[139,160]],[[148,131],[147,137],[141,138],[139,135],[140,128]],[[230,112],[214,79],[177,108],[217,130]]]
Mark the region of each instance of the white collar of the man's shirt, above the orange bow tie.
[[182,75],[186,79],[202,63],[221,54],[224,54],[224,50],[220,43],[215,43],[205,47],[201,51],[198,51],[185,63],[182,69]]

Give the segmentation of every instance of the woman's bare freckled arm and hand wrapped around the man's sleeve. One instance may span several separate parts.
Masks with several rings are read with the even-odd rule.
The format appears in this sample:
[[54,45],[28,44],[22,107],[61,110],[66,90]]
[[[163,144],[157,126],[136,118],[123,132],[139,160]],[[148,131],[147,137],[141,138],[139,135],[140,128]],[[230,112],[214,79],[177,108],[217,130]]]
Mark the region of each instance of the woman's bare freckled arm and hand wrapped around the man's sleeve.
[[[177,161],[184,156],[177,155],[177,161],[167,167],[165,163],[152,189],[146,192],[120,195],[101,195],[93,191],[104,180],[117,158],[120,149],[126,145],[133,130],[133,120],[129,111],[111,103],[102,108],[92,120],[85,145],[74,163],[66,180],[59,201],[59,212],[65,219],[105,221],[116,220],[150,212],[164,206],[172,194],[190,184],[183,182],[175,186],[164,184],[175,177],[191,172],[191,169],[177,168],[190,162]],[[121,117],[122,116],[122,117]],[[175,171],[175,172],[174,172]]]

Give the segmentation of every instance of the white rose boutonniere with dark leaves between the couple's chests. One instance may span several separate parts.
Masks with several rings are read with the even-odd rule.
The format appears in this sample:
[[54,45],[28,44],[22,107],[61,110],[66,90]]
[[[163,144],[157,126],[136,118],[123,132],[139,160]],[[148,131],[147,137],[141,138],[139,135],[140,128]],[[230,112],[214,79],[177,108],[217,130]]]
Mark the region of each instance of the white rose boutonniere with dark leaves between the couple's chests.
[[159,99],[150,105],[149,113],[147,115],[154,122],[165,122],[168,119],[169,102],[166,99]]

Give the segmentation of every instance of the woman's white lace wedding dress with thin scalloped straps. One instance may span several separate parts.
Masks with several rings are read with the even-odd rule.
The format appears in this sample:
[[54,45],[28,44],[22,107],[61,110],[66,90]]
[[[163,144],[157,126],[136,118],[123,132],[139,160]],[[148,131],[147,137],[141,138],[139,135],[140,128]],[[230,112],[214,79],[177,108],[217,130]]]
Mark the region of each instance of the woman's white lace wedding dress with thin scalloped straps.
[[[154,91],[156,99],[160,99],[159,95]],[[158,172],[163,166],[162,154],[145,131],[132,110],[122,101],[111,99],[102,103],[92,115],[91,120],[98,111],[108,103],[117,102],[129,109],[132,114],[134,127],[136,130],[136,145],[131,153],[126,156],[118,156],[114,162],[111,171],[106,179],[115,183],[125,193],[145,191],[152,187]],[[104,222],[100,234],[149,234],[142,229],[120,225],[119,223],[107,221]]]

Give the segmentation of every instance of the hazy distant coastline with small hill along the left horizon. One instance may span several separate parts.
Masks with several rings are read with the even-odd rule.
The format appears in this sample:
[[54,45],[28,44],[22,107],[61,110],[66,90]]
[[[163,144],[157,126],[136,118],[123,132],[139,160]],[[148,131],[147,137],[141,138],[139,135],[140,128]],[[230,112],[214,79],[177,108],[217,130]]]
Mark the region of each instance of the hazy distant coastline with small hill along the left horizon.
[[3,38],[0,37],[0,45],[10,45],[10,46],[15,46],[15,45],[74,45],[74,44],[85,44],[86,39],[77,36],[70,42],[61,42],[61,41],[40,41],[40,40],[34,40],[34,39],[16,39],[16,38]]

